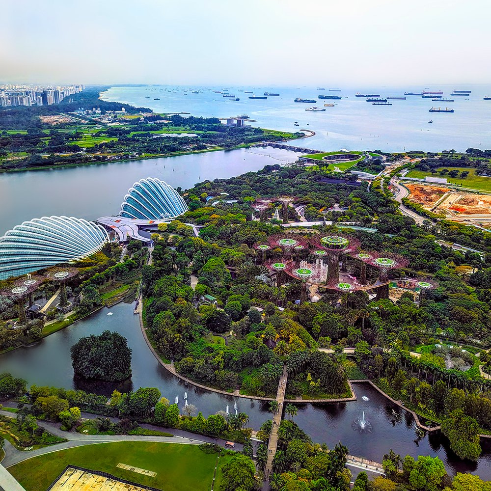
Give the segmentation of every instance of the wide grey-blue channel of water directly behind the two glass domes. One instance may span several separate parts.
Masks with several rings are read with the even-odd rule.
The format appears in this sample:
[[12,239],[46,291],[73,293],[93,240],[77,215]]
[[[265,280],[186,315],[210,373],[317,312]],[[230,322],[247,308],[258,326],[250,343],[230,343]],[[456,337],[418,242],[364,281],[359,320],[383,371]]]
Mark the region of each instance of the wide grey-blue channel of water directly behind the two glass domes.
[[174,188],[189,189],[206,179],[232,177],[267,164],[295,162],[297,155],[269,147],[1,173],[0,236],[25,220],[45,215],[86,219],[117,215],[128,189],[143,177],[157,177]]

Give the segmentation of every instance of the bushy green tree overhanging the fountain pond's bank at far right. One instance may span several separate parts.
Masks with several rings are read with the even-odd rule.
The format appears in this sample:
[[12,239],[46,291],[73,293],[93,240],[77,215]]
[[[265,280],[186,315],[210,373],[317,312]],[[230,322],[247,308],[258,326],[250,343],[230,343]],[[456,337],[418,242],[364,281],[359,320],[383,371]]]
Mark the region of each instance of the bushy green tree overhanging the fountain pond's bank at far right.
[[463,409],[456,409],[443,420],[441,431],[450,440],[450,448],[461,459],[477,461],[481,445],[476,419],[466,416]]

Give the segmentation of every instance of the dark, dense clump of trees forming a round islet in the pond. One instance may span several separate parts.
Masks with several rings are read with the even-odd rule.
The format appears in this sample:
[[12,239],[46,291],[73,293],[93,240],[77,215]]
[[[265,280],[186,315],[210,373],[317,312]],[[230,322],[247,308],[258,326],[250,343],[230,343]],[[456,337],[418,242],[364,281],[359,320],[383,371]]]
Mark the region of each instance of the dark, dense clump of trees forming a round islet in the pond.
[[71,349],[76,375],[87,379],[121,382],[131,377],[131,349],[125,337],[104,331],[82,337]]

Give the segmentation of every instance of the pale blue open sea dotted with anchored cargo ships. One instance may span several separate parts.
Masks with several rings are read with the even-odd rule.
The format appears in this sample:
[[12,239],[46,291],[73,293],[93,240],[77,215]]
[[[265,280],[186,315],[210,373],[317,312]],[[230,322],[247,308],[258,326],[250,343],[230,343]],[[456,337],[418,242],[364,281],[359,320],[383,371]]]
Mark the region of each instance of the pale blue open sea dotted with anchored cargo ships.
[[[421,92],[423,87],[345,87],[341,92],[318,91],[317,87],[226,87],[240,101],[229,101],[213,90],[225,87],[195,87],[203,90],[184,95],[182,88],[191,87],[112,87],[102,97],[110,101],[125,102],[138,107],[151,108],[158,112],[191,112],[193,116],[228,117],[248,114],[256,123],[253,126],[295,131],[310,129],[316,136],[301,140],[300,146],[319,150],[382,149],[388,152],[403,150],[441,151],[454,148],[465,151],[469,147],[491,148],[491,85],[426,85],[430,90],[442,90],[443,97],[455,102],[432,102],[421,96],[407,96],[405,101],[388,101],[392,106],[378,107],[355,97],[356,92],[403,96],[404,92]],[[160,91],[162,89],[162,92]],[[253,90],[256,95],[263,92],[279,92],[280,96],[269,96],[267,100],[250,100],[238,89]],[[328,87],[326,86],[326,89]],[[454,89],[472,90],[469,97],[450,97]],[[170,91],[167,91],[170,90]],[[172,92],[172,90],[175,91]],[[207,90],[210,90],[209,92]],[[317,100],[319,94],[339,95],[340,100]],[[150,96],[151,99],[145,99]],[[154,101],[158,97],[160,101]],[[316,99],[316,106],[324,108],[324,103],[337,106],[325,108],[323,112],[305,111],[314,104],[293,102],[296,97]],[[469,99],[466,101],[465,99]],[[429,113],[432,106],[449,107],[454,113]],[[433,123],[428,121],[432,119]],[[300,126],[294,126],[298,121]],[[307,126],[308,123],[308,126]]]

